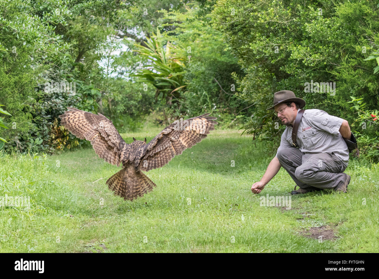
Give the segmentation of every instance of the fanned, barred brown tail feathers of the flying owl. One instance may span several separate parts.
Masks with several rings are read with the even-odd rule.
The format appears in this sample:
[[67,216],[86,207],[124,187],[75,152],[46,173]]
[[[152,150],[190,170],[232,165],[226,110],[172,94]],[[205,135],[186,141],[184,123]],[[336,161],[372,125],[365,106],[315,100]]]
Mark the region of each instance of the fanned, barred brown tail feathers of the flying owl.
[[111,191],[114,191],[115,195],[119,195],[125,200],[142,197],[157,186],[143,172],[136,172],[131,164],[112,175],[106,184]]

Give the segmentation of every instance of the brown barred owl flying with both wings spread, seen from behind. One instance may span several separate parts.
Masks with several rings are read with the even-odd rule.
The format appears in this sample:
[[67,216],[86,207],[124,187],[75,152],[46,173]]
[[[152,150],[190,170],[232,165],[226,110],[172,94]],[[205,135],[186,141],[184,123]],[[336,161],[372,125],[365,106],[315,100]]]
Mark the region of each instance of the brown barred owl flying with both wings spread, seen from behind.
[[106,184],[115,195],[133,200],[157,186],[142,171],[163,167],[175,155],[183,153],[204,139],[218,124],[210,113],[187,120],[177,120],[163,129],[149,143],[136,140],[126,143],[112,121],[98,113],[68,107],[59,117],[61,125],[74,136],[91,142],[97,155],[122,169],[112,175]]

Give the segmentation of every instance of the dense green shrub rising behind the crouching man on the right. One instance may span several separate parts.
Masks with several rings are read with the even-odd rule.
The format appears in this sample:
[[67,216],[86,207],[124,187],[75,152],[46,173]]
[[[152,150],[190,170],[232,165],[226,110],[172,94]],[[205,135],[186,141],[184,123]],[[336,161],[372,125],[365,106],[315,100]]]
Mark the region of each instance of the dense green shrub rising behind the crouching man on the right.
[[[266,108],[280,90],[305,99],[305,109],[349,123],[355,120],[350,96],[362,97],[369,111],[377,109],[376,61],[364,61],[379,47],[377,2],[221,0],[212,16],[246,74],[234,76],[238,96],[254,107],[247,132],[279,144],[284,127],[275,129],[278,118]],[[306,82],[334,82],[335,92],[307,92]]]

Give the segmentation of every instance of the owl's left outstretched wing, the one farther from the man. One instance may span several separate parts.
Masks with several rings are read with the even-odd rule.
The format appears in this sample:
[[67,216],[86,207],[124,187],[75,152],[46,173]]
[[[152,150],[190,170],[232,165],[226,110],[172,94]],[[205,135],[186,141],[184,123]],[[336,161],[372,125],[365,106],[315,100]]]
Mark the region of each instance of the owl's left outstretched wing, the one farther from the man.
[[[130,146],[120,136],[112,121],[104,115],[85,112],[74,107],[59,117],[61,125],[80,139],[91,142],[97,155],[106,162],[120,166],[120,163],[127,161],[130,154]],[[125,155],[125,156],[124,156]]]

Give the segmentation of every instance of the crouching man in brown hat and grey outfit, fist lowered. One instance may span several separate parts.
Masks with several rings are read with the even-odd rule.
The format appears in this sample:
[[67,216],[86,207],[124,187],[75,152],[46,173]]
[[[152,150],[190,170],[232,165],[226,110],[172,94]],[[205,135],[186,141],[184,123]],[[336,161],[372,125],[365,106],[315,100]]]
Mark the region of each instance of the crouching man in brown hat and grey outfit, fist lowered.
[[[269,163],[262,179],[255,182],[251,191],[259,194],[279,172],[287,170],[295,189],[291,194],[303,194],[320,189],[333,189],[346,193],[350,176],[344,173],[349,163],[349,150],[342,137],[350,139],[348,121],[319,109],[306,109],[299,123],[296,143],[292,145],[292,128],[305,101],[296,98],[292,91],[274,93],[274,109],[285,128],[276,156]],[[296,190],[296,186],[299,187]]]

